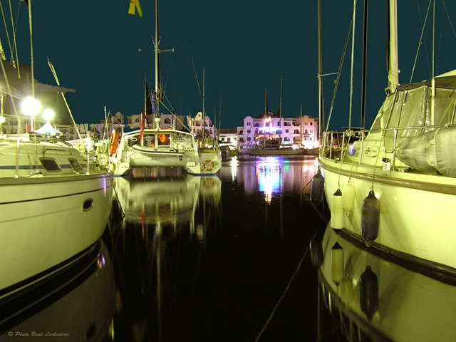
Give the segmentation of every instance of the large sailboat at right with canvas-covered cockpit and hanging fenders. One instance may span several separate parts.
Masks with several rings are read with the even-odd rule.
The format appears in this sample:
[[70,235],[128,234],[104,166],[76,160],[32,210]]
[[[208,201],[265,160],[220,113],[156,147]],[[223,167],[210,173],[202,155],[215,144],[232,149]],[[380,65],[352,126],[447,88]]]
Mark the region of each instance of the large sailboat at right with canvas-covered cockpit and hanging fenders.
[[370,130],[323,133],[312,187],[318,194],[323,177],[331,227],[340,234],[454,275],[456,71],[399,85],[395,0],[388,11],[388,95]]

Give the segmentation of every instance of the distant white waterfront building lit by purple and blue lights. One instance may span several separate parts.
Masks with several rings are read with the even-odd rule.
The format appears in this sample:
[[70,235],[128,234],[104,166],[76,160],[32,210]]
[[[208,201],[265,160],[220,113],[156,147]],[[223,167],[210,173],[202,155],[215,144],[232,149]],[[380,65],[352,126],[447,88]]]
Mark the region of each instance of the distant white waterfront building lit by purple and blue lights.
[[310,115],[282,118],[268,111],[257,118],[247,116],[244,126],[237,127],[239,151],[266,146],[266,142],[268,147],[318,147],[318,118]]

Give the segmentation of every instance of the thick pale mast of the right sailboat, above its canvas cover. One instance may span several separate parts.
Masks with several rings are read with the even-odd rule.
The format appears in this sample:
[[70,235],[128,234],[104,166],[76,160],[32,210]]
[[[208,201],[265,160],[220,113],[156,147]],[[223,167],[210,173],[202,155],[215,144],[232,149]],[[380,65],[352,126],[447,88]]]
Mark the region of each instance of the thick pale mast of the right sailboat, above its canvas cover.
[[394,93],[398,88],[399,72],[398,4],[397,0],[388,0],[388,94]]

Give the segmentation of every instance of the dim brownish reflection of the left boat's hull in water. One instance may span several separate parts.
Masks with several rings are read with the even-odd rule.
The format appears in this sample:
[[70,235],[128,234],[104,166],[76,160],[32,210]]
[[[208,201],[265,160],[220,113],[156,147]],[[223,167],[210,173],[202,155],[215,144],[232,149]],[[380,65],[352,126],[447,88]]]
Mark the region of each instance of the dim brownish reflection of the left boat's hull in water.
[[99,240],[26,294],[0,297],[0,341],[113,341],[113,264]]

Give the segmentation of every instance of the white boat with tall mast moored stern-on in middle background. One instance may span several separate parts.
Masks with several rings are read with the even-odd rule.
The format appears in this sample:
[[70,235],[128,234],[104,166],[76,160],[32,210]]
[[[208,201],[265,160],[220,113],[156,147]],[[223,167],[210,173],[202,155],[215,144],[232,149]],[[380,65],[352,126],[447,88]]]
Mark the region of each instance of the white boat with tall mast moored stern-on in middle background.
[[[128,133],[113,131],[111,137],[115,175],[128,175],[133,167],[183,167],[192,175],[215,175],[221,164],[212,155],[199,152],[190,130],[161,127],[160,102],[163,90],[160,83],[158,35],[158,0],[155,1],[155,89],[145,91],[145,107],[141,114],[140,130]],[[147,89],[147,83],[146,83]],[[150,103],[154,122],[147,127],[147,104]],[[157,115],[157,117],[155,117]]]

